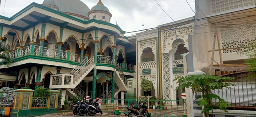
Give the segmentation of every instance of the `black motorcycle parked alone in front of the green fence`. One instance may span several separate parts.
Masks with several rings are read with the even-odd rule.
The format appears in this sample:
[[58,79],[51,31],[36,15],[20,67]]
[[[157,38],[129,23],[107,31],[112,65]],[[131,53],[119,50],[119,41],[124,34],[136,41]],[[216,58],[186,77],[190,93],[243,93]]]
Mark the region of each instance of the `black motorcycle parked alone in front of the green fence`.
[[[148,113],[147,106],[145,105],[146,101],[140,103],[138,107],[128,106],[127,109],[129,111],[128,117],[150,117]],[[142,111],[140,112],[140,108],[142,108]]]

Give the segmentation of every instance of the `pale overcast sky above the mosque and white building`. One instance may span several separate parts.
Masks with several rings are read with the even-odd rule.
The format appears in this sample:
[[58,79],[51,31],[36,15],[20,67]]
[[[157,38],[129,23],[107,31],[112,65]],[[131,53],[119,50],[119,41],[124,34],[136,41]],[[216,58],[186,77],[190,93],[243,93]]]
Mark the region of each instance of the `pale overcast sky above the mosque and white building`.
[[[2,0],[0,15],[11,17],[32,2],[42,4],[44,0]],[[98,3],[98,0],[81,0],[90,9]],[[181,20],[194,16],[194,12],[188,6],[186,0],[156,0],[164,11],[173,19]],[[193,0],[187,0],[192,9],[195,9]],[[103,4],[112,14],[111,23],[116,24],[126,32],[137,31],[157,27],[164,23],[172,22],[158,6],[155,0],[102,0]],[[5,3],[5,4],[4,4]],[[5,9],[4,9],[5,5]],[[130,36],[134,33],[127,33]]]

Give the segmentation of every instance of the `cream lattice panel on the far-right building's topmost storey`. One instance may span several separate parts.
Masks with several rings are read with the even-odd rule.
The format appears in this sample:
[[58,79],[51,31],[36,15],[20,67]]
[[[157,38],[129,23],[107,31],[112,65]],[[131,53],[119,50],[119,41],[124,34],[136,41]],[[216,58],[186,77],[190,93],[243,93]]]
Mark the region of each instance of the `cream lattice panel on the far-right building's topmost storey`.
[[212,0],[212,13],[255,5],[256,0]]

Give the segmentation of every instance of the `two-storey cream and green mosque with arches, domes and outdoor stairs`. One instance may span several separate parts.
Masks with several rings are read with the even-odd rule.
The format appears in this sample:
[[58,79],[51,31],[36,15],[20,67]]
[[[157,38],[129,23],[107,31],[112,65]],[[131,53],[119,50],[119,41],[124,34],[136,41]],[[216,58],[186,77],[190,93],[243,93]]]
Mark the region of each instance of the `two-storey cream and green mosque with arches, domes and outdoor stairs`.
[[1,45],[12,63],[1,62],[0,86],[124,99],[134,91],[136,45],[111,17],[101,0],[91,9],[80,0],[44,0],[1,16]]

